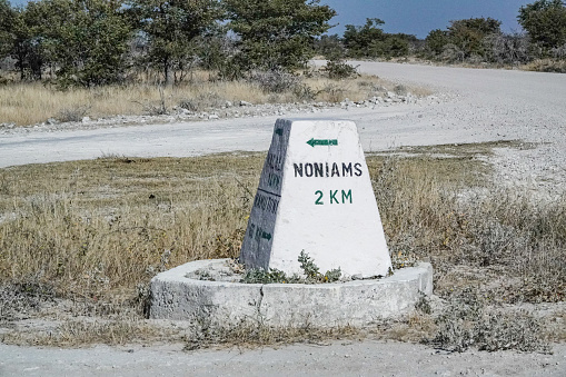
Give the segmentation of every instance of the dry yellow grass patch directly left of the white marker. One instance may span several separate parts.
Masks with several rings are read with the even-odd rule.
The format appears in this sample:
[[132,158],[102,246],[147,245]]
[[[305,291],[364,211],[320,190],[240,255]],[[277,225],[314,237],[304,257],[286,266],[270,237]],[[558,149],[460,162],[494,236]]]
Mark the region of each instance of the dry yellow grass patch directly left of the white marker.
[[[0,277],[101,296],[236,257],[261,157],[103,158],[0,171]],[[40,178],[41,177],[41,178]]]

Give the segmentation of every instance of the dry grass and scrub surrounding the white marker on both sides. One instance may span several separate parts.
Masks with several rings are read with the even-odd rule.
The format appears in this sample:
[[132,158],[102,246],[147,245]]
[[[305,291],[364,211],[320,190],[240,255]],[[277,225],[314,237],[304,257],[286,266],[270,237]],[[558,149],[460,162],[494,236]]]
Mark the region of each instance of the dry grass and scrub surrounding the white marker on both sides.
[[[438,146],[411,149],[410,157],[368,156],[390,250],[430,260],[435,294],[448,300],[471,289],[486,305],[562,301],[566,197],[538,202],[527,192],[493,183],[489,166],[475,158],[491,147]],[[152,276],[195,259],[238,256],[264,158],[107,157],[1,169],[2,317],[33,317],[44,302],[62,297],[80,302],[70,315],[106,319],[59,327],[47,338],[38,335],[40,344],[72,344],[72,337],[78,344],[135,339],[129,334],[145,326],[136,320],[142,319]],[[133,318],[131,326],[128,318]],[[240,325],[191,333],[189,348],[235,343],[242,331],[250,344],[349,334]],[[415,314],[378,333],[418,340],[430,338],[440,325],[427,314]],[[99,336],[103,333],[109,336]]]

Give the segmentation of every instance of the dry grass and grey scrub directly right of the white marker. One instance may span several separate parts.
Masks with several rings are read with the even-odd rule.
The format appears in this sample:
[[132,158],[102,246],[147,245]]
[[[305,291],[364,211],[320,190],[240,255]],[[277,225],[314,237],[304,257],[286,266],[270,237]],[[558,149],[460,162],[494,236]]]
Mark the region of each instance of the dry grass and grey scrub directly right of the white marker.
[[500,302],[565,299],[566,195],[499,187],[468,157],[417,161],[390,158],[374,176],[393,254],[430,260],[443,297],[475,285]]

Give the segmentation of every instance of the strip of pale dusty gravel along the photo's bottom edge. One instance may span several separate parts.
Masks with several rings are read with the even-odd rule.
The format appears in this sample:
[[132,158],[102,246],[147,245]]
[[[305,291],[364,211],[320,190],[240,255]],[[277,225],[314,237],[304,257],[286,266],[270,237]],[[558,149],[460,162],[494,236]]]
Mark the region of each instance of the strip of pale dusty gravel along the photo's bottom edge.
[[0,345],[1,376],[557,376],[554,355],[447,354],[397,341],[335,341],[279,349],[182,351],[182,345],[38,349]]

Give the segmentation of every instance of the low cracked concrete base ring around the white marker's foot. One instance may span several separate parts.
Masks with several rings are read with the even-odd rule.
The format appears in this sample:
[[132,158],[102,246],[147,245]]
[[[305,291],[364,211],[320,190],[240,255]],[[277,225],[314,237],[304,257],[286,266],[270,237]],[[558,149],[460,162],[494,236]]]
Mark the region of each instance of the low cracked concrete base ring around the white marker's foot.
[[387,278],[347,282],[262,285],[242,284],[240,278],[229,259],[198,260],[161,272],[151,280],[150,318],[365,326],[406,315],[421,294],[433,294],[433,267],[426,262]]

